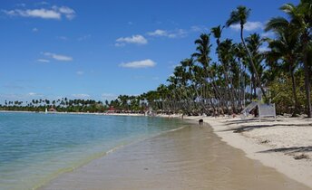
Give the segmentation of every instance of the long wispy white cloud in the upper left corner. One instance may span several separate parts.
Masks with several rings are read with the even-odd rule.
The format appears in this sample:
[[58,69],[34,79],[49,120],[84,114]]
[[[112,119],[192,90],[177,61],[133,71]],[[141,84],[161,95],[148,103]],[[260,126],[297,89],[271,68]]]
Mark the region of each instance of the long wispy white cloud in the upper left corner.
[[67,6],[53,6],[52,9],[38,8],[2,10],[2,12],[10,16],[34,17],[55,20],[60,20],[62,16],[65,16],[68,20],[72,20],[75,17],[75,12],[73,11],[73,9]]

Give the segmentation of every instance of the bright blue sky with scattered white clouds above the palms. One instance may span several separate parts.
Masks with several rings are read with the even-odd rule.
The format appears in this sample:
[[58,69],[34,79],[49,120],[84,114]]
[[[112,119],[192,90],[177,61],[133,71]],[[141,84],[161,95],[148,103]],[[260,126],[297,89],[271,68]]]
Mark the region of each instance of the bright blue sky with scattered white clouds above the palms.
[[[298,0],[1,0],[0,103],[155,90],[238,5],[251,9],[245,36],[271,36],[263,28],[286,3]],[[238,29],[222,39],[239,42]]]

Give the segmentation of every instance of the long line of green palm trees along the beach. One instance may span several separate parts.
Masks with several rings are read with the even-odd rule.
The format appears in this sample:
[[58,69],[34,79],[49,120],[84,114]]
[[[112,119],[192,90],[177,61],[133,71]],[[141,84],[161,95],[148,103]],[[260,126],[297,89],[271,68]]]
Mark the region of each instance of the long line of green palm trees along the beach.
[[[95,100],[33,100],[5,102],[0,109],[44,109],[102,112],[108,109],[143,112],[152,109],[188,115],[239,113],[249,102],[262,100],[276,104],[279,114],[312,116],[312,1],[280,7],[286,17],[271,18],[265,31],[244,35],[251,10],[238,6],[225,24],[210,28],[194,41],[195,50],[180,61],[166,84],[139,96],[121,95],[105,103]],[[229,26],[239,24],[240,42],[222,38]],[[215,41],[213,48],[211,42]],[[268,44],[268,48],[262,47]],[[217,59],[211,58],[211,53]]]

